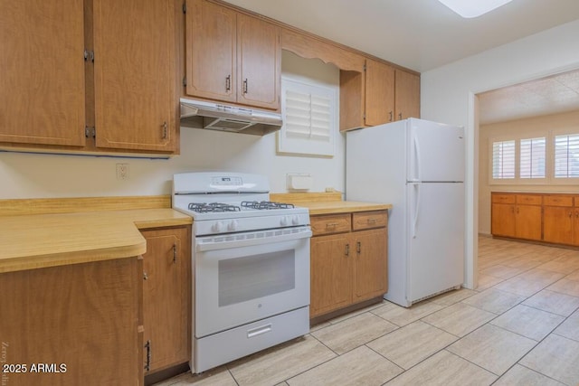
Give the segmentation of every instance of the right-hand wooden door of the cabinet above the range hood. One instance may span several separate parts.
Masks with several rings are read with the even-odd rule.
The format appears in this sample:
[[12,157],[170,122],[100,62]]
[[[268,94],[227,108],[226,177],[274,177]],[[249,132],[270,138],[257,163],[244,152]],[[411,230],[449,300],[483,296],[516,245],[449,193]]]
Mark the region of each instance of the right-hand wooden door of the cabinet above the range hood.
[[280,108],[280,27],[238,14],[237,42],[237,101],[262,108]]

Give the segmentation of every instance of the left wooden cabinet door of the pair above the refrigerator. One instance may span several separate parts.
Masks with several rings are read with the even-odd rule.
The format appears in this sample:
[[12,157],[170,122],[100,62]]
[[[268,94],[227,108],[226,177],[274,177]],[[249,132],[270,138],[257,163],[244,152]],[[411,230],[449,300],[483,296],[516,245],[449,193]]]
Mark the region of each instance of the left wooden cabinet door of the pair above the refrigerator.
[[394,69],[384,63],[365,61],[365,125],[394,121]]

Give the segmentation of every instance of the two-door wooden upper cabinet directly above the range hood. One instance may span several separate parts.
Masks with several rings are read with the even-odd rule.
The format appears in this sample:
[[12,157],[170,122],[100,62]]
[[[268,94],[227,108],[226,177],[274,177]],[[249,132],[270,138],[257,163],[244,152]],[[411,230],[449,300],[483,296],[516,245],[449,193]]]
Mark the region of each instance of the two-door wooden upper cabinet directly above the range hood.
[[185,93],[280,108],[280,27],[206,0],[187,0]]

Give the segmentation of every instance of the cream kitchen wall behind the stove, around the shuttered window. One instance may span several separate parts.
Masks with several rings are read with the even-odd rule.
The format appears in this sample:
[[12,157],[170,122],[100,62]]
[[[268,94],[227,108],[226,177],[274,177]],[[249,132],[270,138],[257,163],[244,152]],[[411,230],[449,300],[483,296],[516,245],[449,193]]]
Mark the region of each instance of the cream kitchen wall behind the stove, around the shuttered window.
[[[284,52],[282,71],[339,89],[339,71],[321,61]],[[337,127],[336,133],[333,158],[277,155],[275,134],[255,137],[187,127],[181,129],[181,155],[169,160],[0,153],[0,199],[168,194],[173,174],[209,170],[265,174],[274,193],[286,191],[286,174],[309,173],[312,192],[326,187],[343,192],[345,137]],[[117,180],[117,163],[128,163],[128,180]]]

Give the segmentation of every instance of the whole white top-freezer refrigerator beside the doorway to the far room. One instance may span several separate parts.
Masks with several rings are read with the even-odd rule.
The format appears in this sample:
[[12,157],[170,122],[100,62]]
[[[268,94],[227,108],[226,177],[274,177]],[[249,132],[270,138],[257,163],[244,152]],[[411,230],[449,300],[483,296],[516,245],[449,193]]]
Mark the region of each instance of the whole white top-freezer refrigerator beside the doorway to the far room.
[[392,203],[388,292],[400,306],[464,282],[464,128],[409,118],[346,134],[346,200]]

